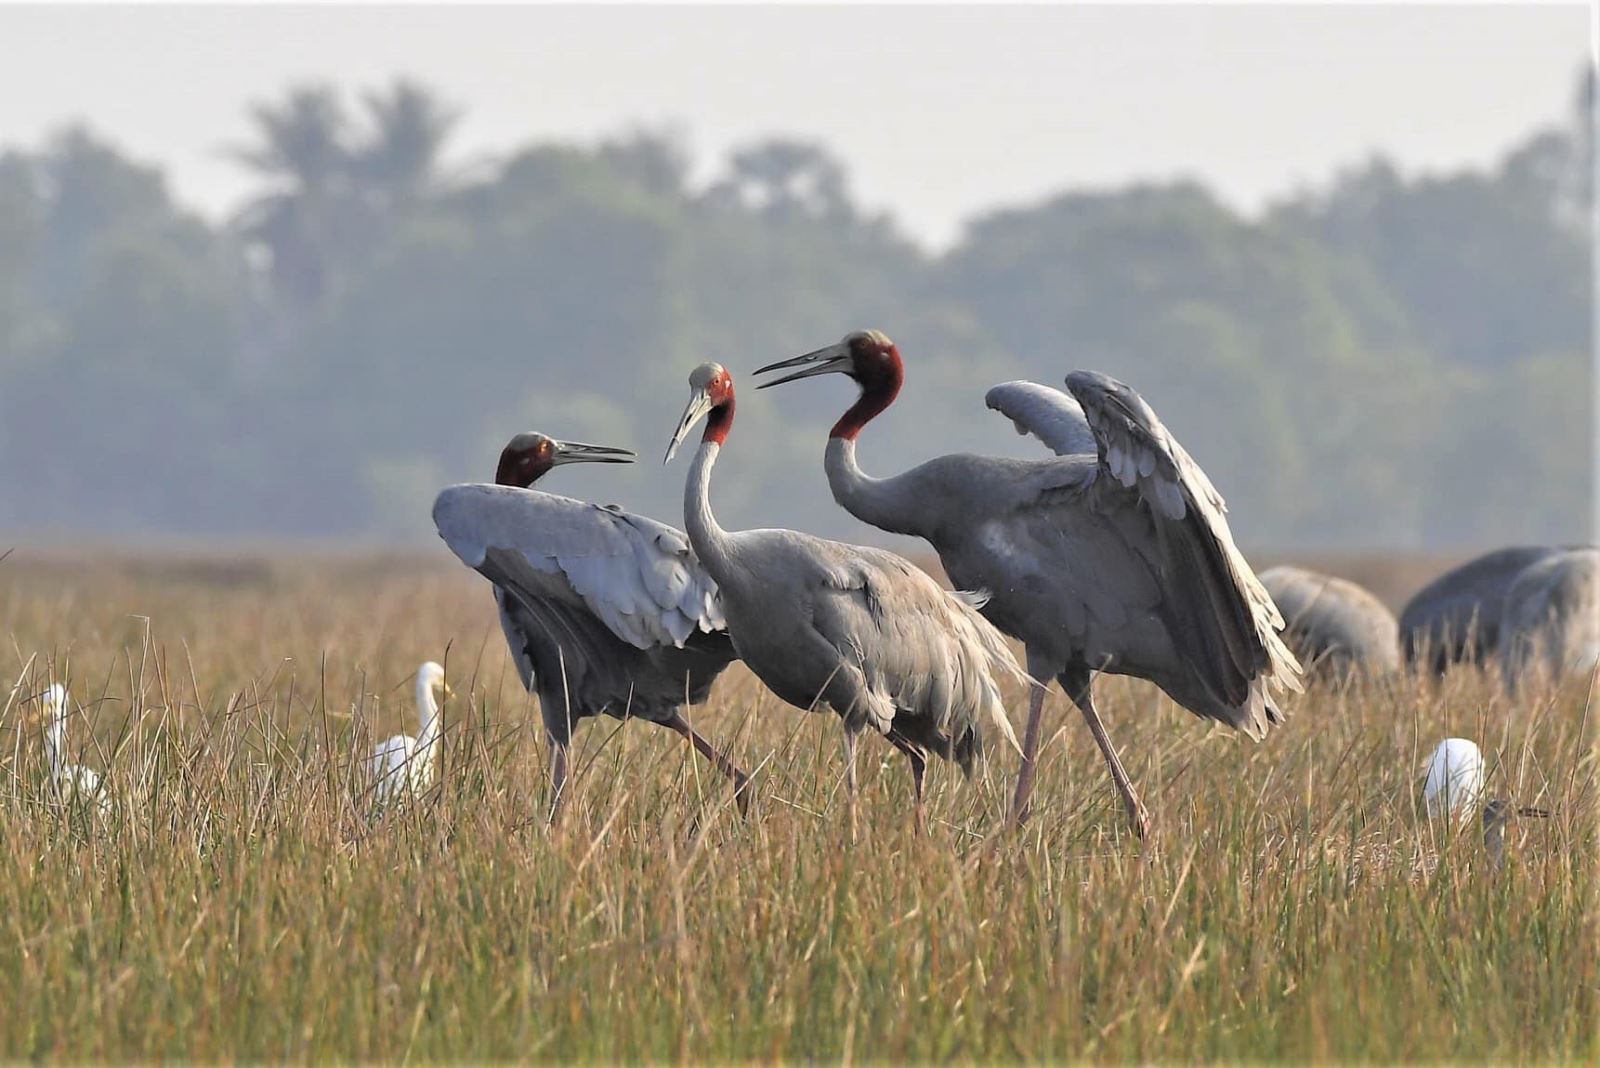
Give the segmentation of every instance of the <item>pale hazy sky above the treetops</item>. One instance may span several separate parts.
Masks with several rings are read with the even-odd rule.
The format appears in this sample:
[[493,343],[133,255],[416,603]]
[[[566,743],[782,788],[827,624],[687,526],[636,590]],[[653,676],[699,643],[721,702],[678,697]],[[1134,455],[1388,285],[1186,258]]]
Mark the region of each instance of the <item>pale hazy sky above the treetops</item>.
[[221,149],[291,82],[410,74],[456,158],[677,123],[702,171],[827,142],[859,198],[942,243],[984,208],[1190,174],[1243,208],[1384,152],[1493,160],[1565,112],[1582,5],[1506,8],[0,8],[0,144],[83,118],[221,213]]

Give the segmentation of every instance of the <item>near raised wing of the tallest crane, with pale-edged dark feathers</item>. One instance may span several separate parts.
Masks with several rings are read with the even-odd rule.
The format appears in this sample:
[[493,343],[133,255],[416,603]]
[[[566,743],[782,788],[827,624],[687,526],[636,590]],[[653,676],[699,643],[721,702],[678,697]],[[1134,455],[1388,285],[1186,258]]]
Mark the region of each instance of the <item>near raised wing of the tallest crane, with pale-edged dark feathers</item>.
[[[1083,408],[1104,476],[1094,492],[1106,507],[1134,494],[1154,520],[1160,571],[1168,585],[1190,590],[1170,598],[1174,640],[1195,664],[1222,665],[1208,686],[1229,705],[1253,708],[1254,679],[1301,689],[1299,664],[1278,632],[1283,617],[1227,528],[1227,505],[1200,465],[1166,432],[1150,406],[1098,371],[1074,371],[1067,390]],[[1266,729],[1266,719],[1256,724]]]

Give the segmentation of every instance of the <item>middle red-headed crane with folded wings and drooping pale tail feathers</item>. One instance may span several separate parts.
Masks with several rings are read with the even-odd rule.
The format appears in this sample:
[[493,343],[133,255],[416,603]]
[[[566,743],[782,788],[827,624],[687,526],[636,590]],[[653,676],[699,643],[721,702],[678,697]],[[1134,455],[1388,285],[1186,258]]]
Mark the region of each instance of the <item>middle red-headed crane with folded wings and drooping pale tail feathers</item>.
[[710,510],[710,472],[733,409],[733,376],[715,363],[694,368],[666,456],[706,419],[683,526],[722,590],[733,648],[782,700],[808,711],[827,705],[843,719],[851,833],[856,739],[866,727],[910,761],[922,828],[926,755],[954,759],[970,775],[986,721],[1016,745],[997,676],[1026,675],[970,600],[894,553],[797,531],[723,531]]

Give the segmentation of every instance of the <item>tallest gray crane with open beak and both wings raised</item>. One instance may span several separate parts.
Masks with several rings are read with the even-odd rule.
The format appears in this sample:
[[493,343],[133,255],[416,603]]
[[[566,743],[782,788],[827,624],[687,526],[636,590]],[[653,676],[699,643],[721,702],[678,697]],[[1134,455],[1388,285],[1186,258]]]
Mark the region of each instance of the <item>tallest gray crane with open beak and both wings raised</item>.
[[824,467],[858,520],[928,540],[950,582],[989,593],[984,616],[1027,648],[1035,679],[1013,815],[1034,791],[1040,716],[1056,678],[1083,711],[1134,831],[1149,814],[1094,708],[1094,671],[1134,675],[1189,711],[1259,740],[1299,691],[1283,619],[1227,529],[1222,497],[1131,389],[1093,371],[1067,393],[1005,382],[986,403],[1058,459],[941,456],[896,478],[869,478],[856,436],[899,395],[906,368],[878,331],[760,368],[798,368],[760,389],[846,374],[861,397],[834,425]]

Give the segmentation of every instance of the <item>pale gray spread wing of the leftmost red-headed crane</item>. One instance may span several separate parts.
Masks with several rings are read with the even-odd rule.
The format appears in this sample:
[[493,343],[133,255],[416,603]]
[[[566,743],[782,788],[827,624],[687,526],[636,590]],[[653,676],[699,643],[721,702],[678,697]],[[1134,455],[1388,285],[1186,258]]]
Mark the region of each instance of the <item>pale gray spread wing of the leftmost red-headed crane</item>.
[[438,494],[434,524],[469,568],[488,564],[498,585],[544,596],[565,588],[635,649],[682,648],[694,633],[726,627],[717,584],[688,539],[664,523],[533,489],[469,483]]

